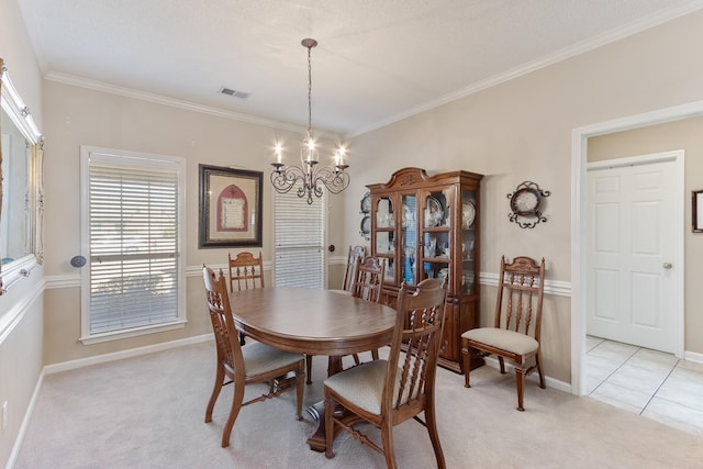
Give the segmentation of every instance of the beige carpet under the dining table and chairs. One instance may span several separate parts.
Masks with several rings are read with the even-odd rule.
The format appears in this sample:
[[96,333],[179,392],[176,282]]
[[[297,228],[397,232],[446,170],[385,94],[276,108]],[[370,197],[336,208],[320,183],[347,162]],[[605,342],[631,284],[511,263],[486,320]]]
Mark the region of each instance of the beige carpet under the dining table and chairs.
[[[346,433],[336,457],[305,445],[313,429],[294,420],[294,393],[246,406],[228,448],[220,447],[231,387],[203,423],[214,378],[212,343],[47,376],[16,468],[384,468]],[[326,368],[313,360],[305,404],[321,399]],[[590,398],[526,386],[515,411],[514,380],[482,367],[440,370],[439,436],[448,468],[701,468],[703,438]],[[259,392],[261,388],[252,391]],[[435,466],[423,426],[394,432],[401,468]]]

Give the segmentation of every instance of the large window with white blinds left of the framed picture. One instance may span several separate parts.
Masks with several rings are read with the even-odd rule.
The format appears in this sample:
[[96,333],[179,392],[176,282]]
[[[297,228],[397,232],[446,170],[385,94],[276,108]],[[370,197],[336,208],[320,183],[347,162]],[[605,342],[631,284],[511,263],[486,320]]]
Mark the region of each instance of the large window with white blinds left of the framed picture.
[[81,340],[182,327],[183,159],[81,147]]

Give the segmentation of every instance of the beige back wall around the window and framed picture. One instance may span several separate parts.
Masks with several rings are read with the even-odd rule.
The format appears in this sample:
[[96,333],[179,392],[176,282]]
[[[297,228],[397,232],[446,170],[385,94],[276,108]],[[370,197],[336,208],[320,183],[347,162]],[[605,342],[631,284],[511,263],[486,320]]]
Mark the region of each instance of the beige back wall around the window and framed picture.
[[[46,365],[120,351],[202,334],[211,326],[204,314],[200,266],[225,266],[227,249],[198,247],[199,164],[233,166],[264,171],[264,236],[260,248],[267,266],[272,265],[272,189],[268,182],[274,142],[300,141],[300,133],[243,123],[153,102],[109,94],[54,81],[45,81],[45,190],[46,190]],[[324,142],[323,142],[324,143]],[[327,142],[328,144],[328,142]],[[186,264],[188,324],[182,330],[124,340],[82,345],[80,337],[80,271],[70,266],[80,253],[81,145],[186,158]],[[291,152],[294,154],[294,150]],[[297,155],[293,155],[295,157]],[[328,244],[343,242],[341,205],[343,196],[330,201]],[[333,266],[337,270],[337,266]],[[270,272],[267,272],[270,280]],[[53,280],[68,279],[72,286],[53,288]],[[62,283],[64,284],[64,283]],[[269,281],[269,284],[270,281]],[[51,334],[49,334],[51,331]]]

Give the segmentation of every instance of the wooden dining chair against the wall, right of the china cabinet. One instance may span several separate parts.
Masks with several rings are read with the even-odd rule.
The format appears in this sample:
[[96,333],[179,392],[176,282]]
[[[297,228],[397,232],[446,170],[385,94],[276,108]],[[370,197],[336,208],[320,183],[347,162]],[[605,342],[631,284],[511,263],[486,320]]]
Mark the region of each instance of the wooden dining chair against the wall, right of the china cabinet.
[[[545,259],[521,256],[512,263],[501,258],[498,300],[493,327],[472,328],[461,334],[465,386],[470,388],[470,355],[495,355],[505,372],[505,359],[513,362],[517,387],[517,410],[524,411],[525,376],[539,373],[539,387],[545,388],[542,367],[542,304],[545,286]],[[534,360],[534,361],[533,361]]]

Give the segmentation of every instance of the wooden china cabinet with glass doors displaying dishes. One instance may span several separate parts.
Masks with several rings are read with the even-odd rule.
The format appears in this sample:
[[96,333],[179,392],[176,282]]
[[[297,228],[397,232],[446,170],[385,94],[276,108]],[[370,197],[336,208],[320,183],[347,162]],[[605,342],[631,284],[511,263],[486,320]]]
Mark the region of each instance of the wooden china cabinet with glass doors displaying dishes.
[[[447,310],[439,365],[461,370],[461,339],[477,326],[479,220],[482,175],[450,171],[428,176],[403,168],[386,183],[367,186],[371,198],[371,255],[386,259],[383,298],[395,306],[404,282],[411,289],[447,278]],[[471,368],[482,364],[477,357]]]

